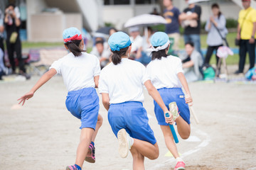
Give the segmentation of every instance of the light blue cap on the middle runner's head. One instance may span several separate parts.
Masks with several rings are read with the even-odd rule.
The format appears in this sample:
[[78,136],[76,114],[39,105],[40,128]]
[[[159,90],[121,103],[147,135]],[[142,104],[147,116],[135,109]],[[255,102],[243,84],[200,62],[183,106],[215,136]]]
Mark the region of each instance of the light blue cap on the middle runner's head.
[[108,44],[110,45],[110,49],[112,51],[119,51],[120,49],[131,45],[131,43],[132,42],[129,39],[129,35],[122,31],[113,33],[108,40]]

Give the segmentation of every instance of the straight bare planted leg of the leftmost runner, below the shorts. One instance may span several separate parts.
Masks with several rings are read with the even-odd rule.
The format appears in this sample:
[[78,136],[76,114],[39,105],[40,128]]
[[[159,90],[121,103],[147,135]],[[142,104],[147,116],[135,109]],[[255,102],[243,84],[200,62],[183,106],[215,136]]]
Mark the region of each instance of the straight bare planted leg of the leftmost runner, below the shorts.
[[82,128],[81,130],[80,143],[78,145],[77,157],[75,160],[75,164],[78,164],[81,168],[85,161],[90,142],[92,141],[93,132],[95,132],[95,130],[92,128]]

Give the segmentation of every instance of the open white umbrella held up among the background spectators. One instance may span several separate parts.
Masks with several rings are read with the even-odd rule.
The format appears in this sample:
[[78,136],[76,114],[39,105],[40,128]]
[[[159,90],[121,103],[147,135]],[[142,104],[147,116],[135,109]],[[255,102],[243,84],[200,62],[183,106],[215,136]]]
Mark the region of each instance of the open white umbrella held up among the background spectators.
[[165,23],[166,20],[162,16],[142,14],[140,16],[134,16],[133,18],[130,18],[126,23],[124,23],[124,28],[132,26],[150,26]]

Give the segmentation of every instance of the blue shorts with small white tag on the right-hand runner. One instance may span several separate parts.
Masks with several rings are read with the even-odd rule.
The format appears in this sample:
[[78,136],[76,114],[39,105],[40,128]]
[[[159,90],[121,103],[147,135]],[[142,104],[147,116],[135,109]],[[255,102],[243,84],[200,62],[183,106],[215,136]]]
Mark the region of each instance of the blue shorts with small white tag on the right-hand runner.
[[[175,101],[178,106],[181,118],[190,124],[190,111],[185,101],[185,96],[181,88],[162,88],[157,89],[166,107],[169,109],[169,103]],[[154,101],[154,112],[159,125],[168,125],[164,118],[164,112],[160,106]]]

